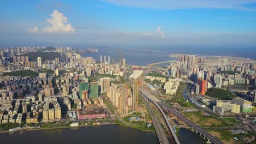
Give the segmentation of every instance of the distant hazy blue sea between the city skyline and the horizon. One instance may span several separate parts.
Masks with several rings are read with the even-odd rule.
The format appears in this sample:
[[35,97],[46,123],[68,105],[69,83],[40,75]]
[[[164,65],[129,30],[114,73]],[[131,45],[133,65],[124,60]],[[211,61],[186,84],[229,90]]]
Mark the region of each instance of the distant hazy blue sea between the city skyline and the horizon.
[[[126,59],[127,64],[132,65],[148,65],[150,63],[172,61],[177,58],[169,57],[173,53],[183,53],[191,55],[208,55],[208,56],[234,56],[234,57],[246,57],[256,60],[256,47],[248,47],[244,49],[238,49],[234,47],[203,47],[203,46],[190,46],[188,47],[159,47],[159,48],[143,48],[143,47],[97,47],[95,48],[99,52],[82,53],[84,57],[94,57],[97,61],[100,61],[100,55],[110,56],[111,62],[119,61],[119,52],[122,53]],[[166,64],[160,64],[166,65]]]

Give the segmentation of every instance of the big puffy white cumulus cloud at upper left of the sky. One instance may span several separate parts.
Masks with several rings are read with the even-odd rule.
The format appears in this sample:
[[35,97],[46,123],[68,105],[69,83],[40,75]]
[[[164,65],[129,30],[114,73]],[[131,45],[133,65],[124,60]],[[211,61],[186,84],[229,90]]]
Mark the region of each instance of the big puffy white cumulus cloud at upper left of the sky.
[[[42,31],[38,30],[38,27],[28,28],[28,32],[45,32],[45,33],[75,33],[75,28],[71,26],[70,23],[67,23],[67,17],[65,17],[62,13],[57,10],[53,11],[51,14],[51,19],[46,19],[47,22],[51,24],[51,26],[47,26],[42,29]],[[35,29],[36,28],[36,29]],[[35,30],[35,31],[32,31]]]

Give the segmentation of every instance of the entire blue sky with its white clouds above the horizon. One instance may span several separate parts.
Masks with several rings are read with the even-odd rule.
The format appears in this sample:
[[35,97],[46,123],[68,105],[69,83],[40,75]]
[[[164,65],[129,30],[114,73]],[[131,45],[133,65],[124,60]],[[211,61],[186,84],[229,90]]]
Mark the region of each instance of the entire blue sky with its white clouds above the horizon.
[[10,0],[0,18],[0,46],[256,47],[256,0]]

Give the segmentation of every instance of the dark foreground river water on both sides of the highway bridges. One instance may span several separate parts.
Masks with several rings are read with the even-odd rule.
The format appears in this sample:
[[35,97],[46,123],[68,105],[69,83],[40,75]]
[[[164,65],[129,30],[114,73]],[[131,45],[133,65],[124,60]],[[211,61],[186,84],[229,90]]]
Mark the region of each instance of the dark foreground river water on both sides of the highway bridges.
[[[178,139],[181,143],[205,143],[198,134],[187,129],[180,129]],[[80,144],[80,143],[111,143],[111,144],[131,144],[131,143],[159,143],[158,137],[154,133],[127,128],[121,125],[101,125],[94,127],[64,128],[27,131],[26,134],[0,134],[1,143],[8,144]]]

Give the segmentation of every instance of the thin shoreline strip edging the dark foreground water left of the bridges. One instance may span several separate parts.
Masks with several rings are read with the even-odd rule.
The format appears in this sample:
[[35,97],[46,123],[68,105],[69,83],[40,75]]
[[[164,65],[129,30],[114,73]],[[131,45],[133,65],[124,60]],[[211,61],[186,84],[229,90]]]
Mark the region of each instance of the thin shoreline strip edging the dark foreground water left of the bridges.
[[39,129],[36,129],[36,128],[35,129],[22,128],[22,129],[16,130],[16,131],[0,131],[0,134],[6,134],[6,133],[9,133],[9,134],[13,133],[14,134],[14,133],[19,133],[19,131],[37,131],[37,130],[65,129],[65,128],[79,128],[79,127],[97,127],[97,126],[102,126],[102,125],[121,125],[121,126],[127,127],[127,128],[133,128],[133,129],[138,129],[138,130],[141,130],[141,131],[147,131],[147,132],[150,132],[150,133],[154,133],[153,131],[150,131],[150,130],[142,130],[142,129],[132,127],[132,126],[129,126],[129,125],[125,125],[125,124],[108,123],[108,124],[95,124],[95,125],[78,125],[78,126],[75,126],[75,127],[66,126],[66,127],[53,127],[53,128],[39,128]]

